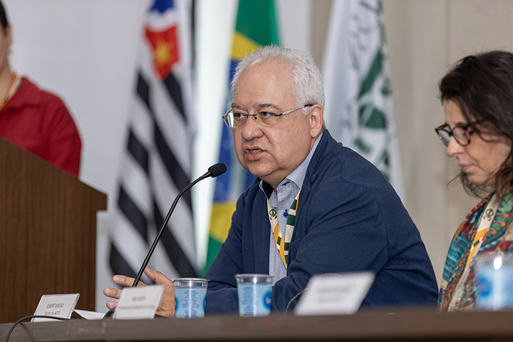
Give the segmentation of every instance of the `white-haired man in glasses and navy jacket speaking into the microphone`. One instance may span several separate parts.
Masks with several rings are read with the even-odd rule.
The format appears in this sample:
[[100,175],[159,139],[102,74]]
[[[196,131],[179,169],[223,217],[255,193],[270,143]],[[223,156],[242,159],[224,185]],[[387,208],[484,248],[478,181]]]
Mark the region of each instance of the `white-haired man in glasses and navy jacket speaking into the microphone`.
[[[362,306],[434,306],[437,284],[420,234],[381,172],[329,135],[321,73],[309,53],[260,48],[237,66],[232,91],[223,119],[239,162],[258,178],[239,197],[205,276],[206,313],[238,311],[234,274],[242,273],[274,276],[271,311],[293,309],[314,274],[365,270],[375,281]],[[157,314],[174,316],[172,282],[145,273],[165,284]]]

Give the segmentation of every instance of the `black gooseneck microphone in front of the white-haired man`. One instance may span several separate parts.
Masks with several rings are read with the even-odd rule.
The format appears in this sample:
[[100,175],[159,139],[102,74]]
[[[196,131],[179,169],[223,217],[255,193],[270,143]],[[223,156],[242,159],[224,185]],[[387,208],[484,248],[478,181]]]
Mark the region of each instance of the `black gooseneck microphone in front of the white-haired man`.
[[[182,195],[187,190],[189,190],[191,187],[196,185],[196,183],[199,182],[200,180],[204,180],[205,178],[208,178],[208,177],[215,178],[215,177],[217,177],[219,175],[222,175],[224,172],[226,172],[226,170],[227,170],[227,167],[224,164],[224,162],[218,162],[217,164],[214,164],[211,167],[209,167],[208,171],[204,175],[202,175],[201,177],[198,177],[195,181],[193,181],[192,183],[187,185],[187,187],[185,187],[182,191],[180,191],[180,193],[175,198],[175,201],[173,201],[173,203],[172,203],[172,205],[171,205],[171,207],[169,209],[169,212],[167,212],[167,215],[166,215],[166,217],[164,219],[164,222],[162,222],[162,224],[160,225],[160,229],[159,229],[159,231],[157,233],[157,236],[155,237],[155,240],[153,240],[153,243],[152,243],[152,245],[150,247],[150,250],[148,251],[148,253],[146,255],[146,258],[144,259],[144,261],[142,261],[142,265],[141,265],[141,267],[139,269],[139,272],[138,272],[137,276],[135,276],[135,279],[134,279],[134,282],[132,284],[132,287],[137,286],[138,282],[141,279],[142,274],[144,273],[144,270],[145,270],[147,264],[150,262],[150,258],[152,257],[152,254],[155,251],[155,248],[157,247],[158,242],[160,241],[160,237],[162,236],[162,232],[164,232],[164,229],[165,229],[165,227],[167,225],[167,222],[169,222],[171,214],[175,210],[175,207],[176,207],[176,205],[178,203],[178,199],[180,199],[180,197],[182,197]],[[110,316],[113,315],[114,311],[115,311],[115,308],[110,309],[109,311],[107,311],[105,316],[103,316],[103,318],[109,318]]]

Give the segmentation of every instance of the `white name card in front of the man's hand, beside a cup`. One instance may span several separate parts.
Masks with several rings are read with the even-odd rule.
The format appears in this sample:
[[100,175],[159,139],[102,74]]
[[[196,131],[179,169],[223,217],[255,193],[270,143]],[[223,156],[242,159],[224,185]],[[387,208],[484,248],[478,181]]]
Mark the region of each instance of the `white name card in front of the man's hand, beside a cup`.
[[164,293],[163,285],[127,287],[121,292],[114,319],[152,319]]

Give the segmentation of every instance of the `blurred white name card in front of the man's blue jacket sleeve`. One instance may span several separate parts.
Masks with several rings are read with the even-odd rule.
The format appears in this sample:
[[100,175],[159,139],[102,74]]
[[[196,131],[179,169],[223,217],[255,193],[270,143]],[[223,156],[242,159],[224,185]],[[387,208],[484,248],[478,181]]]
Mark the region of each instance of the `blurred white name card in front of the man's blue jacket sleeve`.
[[296,315],[355,314],[374,281],[371,271],[312,276]]

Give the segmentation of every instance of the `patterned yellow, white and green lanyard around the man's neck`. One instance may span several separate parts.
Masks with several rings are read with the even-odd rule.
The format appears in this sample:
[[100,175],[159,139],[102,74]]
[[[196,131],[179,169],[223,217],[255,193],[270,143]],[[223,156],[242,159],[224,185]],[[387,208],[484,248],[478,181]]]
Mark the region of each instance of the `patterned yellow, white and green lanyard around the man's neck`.
[[285,268],[287,266],[287,261],[289,261],[289,245],[292,239],[292,234],[294,233],[294,223],[296,222],[296,209],[300,193],[301,189],[299,190],[298,195],[296,195],[294,202],[292,202],[291,209],[289,211],[289,214],[287,215],[285,238],[281,234],[281,231],[278,227],[278,210],[276,210],[276,208],[274,207],[271,207],[271,203],[269,203],[269,199],[267,199],[267,212],[269,214],[269,222],[271,223],[274,242],[276,242],[276,248],[279,251],[281,260],[284,261]]

